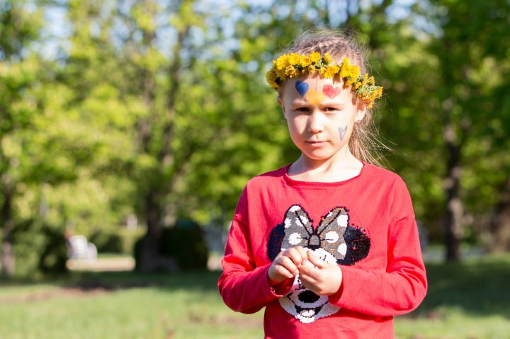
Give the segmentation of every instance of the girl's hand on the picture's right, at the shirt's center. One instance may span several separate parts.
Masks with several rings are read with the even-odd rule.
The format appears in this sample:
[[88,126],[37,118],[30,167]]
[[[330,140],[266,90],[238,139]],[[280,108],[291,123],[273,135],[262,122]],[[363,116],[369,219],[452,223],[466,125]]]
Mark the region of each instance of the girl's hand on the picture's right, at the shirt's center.
[[312,251],[308,251],[308,260],[315,267],[309,265],[300,267],[302,285],[318,295],[327,296],[336,293],[343,280],[340,266],[317,258]]

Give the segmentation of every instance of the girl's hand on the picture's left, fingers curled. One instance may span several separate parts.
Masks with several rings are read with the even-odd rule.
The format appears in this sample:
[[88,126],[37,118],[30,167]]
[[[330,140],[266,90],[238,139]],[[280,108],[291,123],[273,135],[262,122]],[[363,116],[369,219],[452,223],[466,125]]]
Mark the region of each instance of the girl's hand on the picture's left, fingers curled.
[[299,269],[307,260],[307,252],[301,246],[287,248],[281,251],[269,267],[268,277],[272,286],[280,284],[285,280],[297,275]]

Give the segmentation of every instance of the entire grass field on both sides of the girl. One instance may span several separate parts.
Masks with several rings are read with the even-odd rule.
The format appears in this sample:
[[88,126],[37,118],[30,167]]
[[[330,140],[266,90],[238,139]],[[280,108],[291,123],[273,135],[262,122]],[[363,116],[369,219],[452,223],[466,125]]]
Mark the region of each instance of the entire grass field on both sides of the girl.
[[[510,338],[510,255],[429,263],[423,304],[397,338]],[[227,309],[218,272],[81,272],[57,282],[0,281],[1,339],[262,338],[262,313]]]

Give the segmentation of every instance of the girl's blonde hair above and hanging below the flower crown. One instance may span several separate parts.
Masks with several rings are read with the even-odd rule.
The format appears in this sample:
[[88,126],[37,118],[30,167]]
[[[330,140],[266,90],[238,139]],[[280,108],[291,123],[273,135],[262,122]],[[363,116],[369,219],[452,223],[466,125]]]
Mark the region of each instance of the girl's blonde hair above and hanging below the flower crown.
[[[319,52],[321,55],[329,53],[334,61],[340,63],[344,57],[351,60],[364,74],[368,68],[367,51],[359,44],[352,34],[346,34],[339,30],[317,28],[306,30],[297,36],[295,41],[284,53],[310,54]],[[356,96],[353,96],[356,100]],[[348,147],[357,159],[382,166],[384,156],[380,149],[389,150],[378,139],[378,129],[373,119],[372,110],[366,108],[365,116],[355,123]]]

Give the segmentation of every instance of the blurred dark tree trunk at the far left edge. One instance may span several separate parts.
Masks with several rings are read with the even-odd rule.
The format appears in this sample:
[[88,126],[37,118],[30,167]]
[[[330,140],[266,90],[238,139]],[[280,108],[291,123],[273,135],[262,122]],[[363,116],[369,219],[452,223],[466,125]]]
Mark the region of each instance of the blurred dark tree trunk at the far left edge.
[[[5,186],[4,186],[5,188]],[[14,253],[11,231],[12,219],[12,192],[4,189],[4,203],[1,207],[2,243],[1,243],[1,274],[11,276],[14,274]]]

